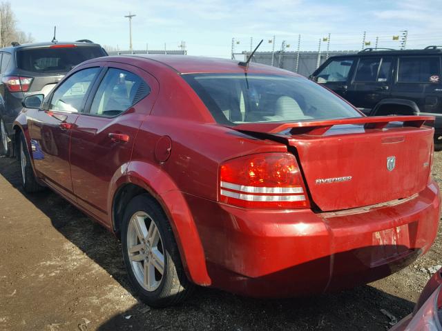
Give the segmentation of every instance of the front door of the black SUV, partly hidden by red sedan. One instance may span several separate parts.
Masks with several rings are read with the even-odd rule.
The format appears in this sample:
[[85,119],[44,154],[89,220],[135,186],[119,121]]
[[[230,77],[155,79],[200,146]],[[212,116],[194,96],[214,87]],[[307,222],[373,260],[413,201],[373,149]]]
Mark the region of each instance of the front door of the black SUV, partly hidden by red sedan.
[[345,98],[354,62],[353,57],[329,59],[324,68],[315,73],[314,80]]

